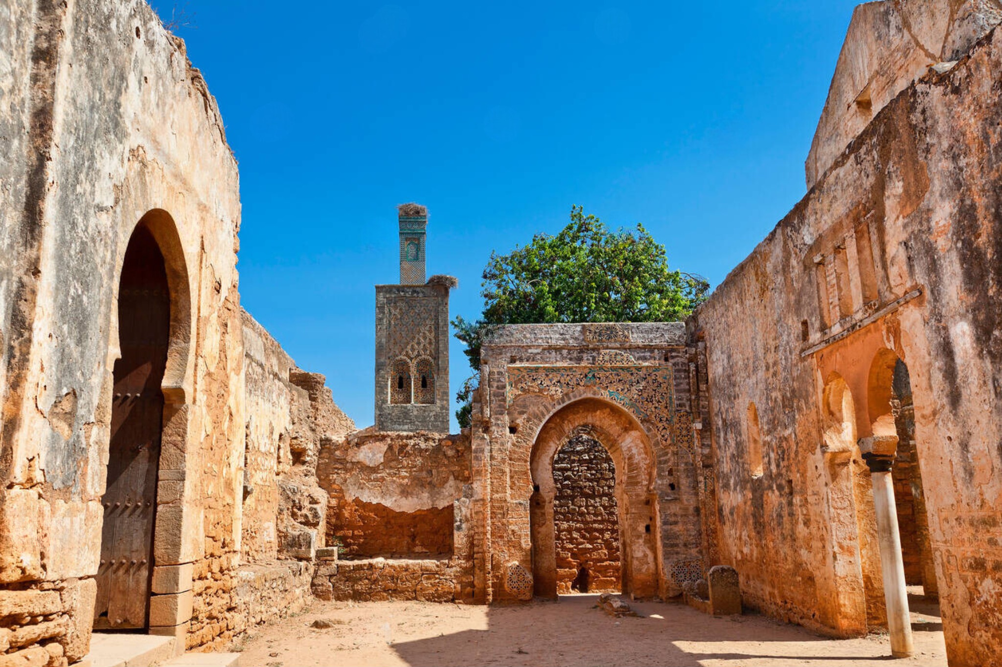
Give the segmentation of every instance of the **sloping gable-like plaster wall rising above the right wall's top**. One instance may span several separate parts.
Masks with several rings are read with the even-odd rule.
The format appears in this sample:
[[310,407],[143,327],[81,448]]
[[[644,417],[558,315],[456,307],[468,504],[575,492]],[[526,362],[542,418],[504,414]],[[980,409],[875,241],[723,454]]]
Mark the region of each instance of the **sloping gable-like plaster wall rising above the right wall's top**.
[[853,12],[805,170],[813,187],[888,102],[1002,21],[998,0],[881,0]]

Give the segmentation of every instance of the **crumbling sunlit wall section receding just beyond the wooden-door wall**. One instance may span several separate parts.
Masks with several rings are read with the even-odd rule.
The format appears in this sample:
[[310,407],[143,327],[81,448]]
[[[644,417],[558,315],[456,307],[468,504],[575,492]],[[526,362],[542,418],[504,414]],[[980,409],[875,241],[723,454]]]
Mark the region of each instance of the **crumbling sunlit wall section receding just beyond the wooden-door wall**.
[[[232,627],[192,626],[189,643],[225,646],[257,624],[302,609],[311,597],[316,550],[324,546],[327,494],[316,481],[321,442],[355,424],[325,378],[300,370],[246,311],[243,316],[245,449],[240,565],[225,617]],[[196,615],[199,612],[196,606]],[[205,641],[199,641],[206,636]]]

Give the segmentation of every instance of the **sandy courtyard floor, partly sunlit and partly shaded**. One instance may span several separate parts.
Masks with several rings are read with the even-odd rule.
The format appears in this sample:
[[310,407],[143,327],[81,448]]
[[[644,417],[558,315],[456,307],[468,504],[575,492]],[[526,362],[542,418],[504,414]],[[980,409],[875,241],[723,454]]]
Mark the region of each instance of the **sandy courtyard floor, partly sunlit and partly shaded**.
[[[714,618],[680,604],[631,603],[614,619],[591,595],[521,607],[424,602],[315,602],[234,647],[242,667],[311,665],[702,665],[842,667],[884,664],[887,635],[835,640],[764,616]],[[936,612],[913,603],[913,610]],[[315,629],[317,619],[334,623]],[[938,616],[912,613],[917,653],[894,665],[946,664]]]

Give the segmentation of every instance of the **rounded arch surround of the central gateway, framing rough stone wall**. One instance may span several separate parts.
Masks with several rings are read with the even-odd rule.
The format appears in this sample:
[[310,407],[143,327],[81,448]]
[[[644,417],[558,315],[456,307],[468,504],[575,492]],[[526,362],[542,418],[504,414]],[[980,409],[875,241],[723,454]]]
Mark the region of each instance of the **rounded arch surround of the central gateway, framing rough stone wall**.
[[534,592],[557,596],[554,460],[569,440],[583,433],[604,447],[614,465],[622,592],[652,597],[660,583],[660,526],[650,439],[622,407],[598,398],[583,398],[556,410],[532,446],[529,524]]

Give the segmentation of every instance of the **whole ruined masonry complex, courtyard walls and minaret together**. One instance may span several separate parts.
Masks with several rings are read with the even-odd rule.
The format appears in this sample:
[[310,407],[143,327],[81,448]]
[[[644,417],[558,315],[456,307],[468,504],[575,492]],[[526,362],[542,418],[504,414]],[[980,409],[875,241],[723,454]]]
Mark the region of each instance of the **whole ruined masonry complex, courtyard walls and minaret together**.
[[0,0],[0,666],[94,629],[223,648],[315,596],[582,586],[904,655],[906,584],[950,665],[1002,665],[1000,20],[860,5],[808,193],[709,300],[501,327],[449,434],[425,207],[359,430],[240,308],[236,163],[184,43],[139,0]]

